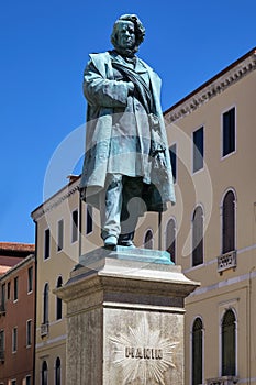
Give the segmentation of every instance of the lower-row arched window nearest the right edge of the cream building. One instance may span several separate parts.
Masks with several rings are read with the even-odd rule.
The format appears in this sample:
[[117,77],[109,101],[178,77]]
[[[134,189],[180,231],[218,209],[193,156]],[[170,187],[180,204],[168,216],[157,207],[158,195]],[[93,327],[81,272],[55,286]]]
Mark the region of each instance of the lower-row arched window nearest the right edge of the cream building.
[[221,324],[222,338],[222,375],[235,375],[236,328],[235,315],[232,309],[226,310]]

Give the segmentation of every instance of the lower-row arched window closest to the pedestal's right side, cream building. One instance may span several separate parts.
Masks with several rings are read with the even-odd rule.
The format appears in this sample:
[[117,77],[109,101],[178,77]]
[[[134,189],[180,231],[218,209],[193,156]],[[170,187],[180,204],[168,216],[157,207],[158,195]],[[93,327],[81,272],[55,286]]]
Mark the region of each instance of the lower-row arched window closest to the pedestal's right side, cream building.
[[192,385],[202,384],[202,320],[197,318],[192,328]]

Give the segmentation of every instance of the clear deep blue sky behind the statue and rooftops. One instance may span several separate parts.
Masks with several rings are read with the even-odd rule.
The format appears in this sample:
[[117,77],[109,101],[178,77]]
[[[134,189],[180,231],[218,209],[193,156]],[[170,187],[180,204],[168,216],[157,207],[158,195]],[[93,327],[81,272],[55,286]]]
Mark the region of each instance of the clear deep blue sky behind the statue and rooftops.
[[88,54],[111,48],[123,13],[136,13],[146,28],[138,55],[163,79],[164,110],[256,46],[255,0],[2,1],[0,241],[34,242],[30,213],[43,201],[51,160],[59,173],[46,178],[49,190],[66,184],[73,133],[84,132]]

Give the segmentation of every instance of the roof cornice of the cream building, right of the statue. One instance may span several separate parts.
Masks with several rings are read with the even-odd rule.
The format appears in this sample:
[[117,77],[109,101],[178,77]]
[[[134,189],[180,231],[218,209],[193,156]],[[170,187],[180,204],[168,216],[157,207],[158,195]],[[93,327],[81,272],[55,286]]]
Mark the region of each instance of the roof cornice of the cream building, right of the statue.
[[221,72],[165,112],[167,123],[190,114],[256,69],[256,51]]

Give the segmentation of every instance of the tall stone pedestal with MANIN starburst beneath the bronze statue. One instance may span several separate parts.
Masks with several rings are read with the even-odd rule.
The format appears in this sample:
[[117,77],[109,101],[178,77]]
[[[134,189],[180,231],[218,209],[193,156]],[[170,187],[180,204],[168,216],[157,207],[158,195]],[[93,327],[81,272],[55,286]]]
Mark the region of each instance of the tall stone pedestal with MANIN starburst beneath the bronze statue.
[[183,385],[189,280],[166,252],[82,255],[55,293],[67,302],[66,385]]

